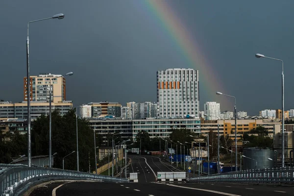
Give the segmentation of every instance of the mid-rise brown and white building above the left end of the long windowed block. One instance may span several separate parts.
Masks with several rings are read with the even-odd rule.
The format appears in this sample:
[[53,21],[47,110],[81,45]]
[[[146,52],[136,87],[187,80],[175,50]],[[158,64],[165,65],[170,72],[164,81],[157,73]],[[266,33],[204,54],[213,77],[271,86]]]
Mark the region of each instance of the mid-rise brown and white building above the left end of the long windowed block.
[[121,117],[122,105],[118,102],[90,102],[87,105],[91,106],[93,118],[105,116]]

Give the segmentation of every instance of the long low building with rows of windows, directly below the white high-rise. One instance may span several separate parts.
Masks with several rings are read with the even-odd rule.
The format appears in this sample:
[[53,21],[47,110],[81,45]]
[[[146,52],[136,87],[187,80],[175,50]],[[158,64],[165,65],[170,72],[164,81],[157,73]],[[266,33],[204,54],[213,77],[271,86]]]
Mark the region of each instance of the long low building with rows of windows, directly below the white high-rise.
[[135,140],[140,131],[147,131],[150,138],[155,137],[169,137],[174,129],[186,128],[194,133],[200,133],[200,119],[121,119],[112,118],[106,121],[101,119],[90,119],[91,128],[98,134],[103,135],[103,143],[107,145],[107,134],[115,132],[123,132],[122,137],[133,138]]

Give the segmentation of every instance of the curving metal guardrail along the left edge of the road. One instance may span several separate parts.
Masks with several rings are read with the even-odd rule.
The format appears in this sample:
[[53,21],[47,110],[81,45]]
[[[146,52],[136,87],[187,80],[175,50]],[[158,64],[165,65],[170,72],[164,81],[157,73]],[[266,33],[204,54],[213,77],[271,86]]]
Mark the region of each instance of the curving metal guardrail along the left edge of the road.
[[29,187],[48,180],[103,180],[128,182],[127,179],[43,167],[11,167],[0,173],[0,196],[18,196]]

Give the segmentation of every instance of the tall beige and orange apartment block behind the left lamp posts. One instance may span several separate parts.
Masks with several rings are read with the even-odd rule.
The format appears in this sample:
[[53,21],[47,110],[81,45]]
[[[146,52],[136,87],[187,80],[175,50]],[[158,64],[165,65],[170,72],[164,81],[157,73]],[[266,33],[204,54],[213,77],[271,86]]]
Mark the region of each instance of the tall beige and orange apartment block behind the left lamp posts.
[[[51,100],[53,102],[66,100],[66,80],[60,76],[62,75],[51,73],[40,73],[38,76],[30,76],[30,100],[49,101],[50,79],[52,85]],[[24,77],[24,101],[27,101],[26,77]]]

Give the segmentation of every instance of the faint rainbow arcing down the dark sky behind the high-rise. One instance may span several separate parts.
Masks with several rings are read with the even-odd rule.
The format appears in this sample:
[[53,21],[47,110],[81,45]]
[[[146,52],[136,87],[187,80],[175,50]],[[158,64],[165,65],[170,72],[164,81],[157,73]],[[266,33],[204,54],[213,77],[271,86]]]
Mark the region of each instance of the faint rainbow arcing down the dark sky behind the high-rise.
[[[179,47],[183,57],[190,68],[199,70],[199,92],[204,94],[205,101],[216,101],[216,92],[223,91],[221,80],[215,74],[212,66],[205,60],[205,55],[201,53],[195,36],[192,36],[189,29],[180,20],[168,1],[145,0],[148,9],[160,20],[163,29],[167,31],[172,41]],[[223,91],[223,93],[225,93]],[[202,96],[201,96],[202,97]],[[202,98],[203,98],[202,97]],[[214,100],[215,99],[215,100]],[[224,103],[224,106],[228,103]]]

